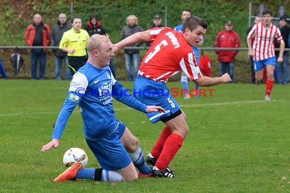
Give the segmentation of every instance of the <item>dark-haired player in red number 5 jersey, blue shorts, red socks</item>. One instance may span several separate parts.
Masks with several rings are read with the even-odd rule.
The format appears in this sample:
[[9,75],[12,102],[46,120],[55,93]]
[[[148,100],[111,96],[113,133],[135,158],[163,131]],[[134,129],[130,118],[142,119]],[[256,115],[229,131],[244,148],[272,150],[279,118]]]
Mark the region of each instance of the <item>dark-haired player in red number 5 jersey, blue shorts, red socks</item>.
[[[151,91],[150,95],[138,94],[135,97],[144,104],[158,104],[166,110],[165,113],[147,114],[151,122],[161,120],[166,124],[147,159],[148,163],[154,165],[154,177],[174,176],[168,165],[189,132],[186,115],[170,94],[164,94],[166,91],[168,93],[167,79],[182,70],[198,86],[213,86],[231,81],[228,74],[211,78],[200,73],[191,47],[202,41],[207,26],[206,20],[191,16],[183,23],[182,32],[168,27],[153,28],[133,34],[114,45],[114,50],[117,51],[139,41],[152,43],[141,62],[134,90]],[[154,95],[156,90],[163,94]]]

